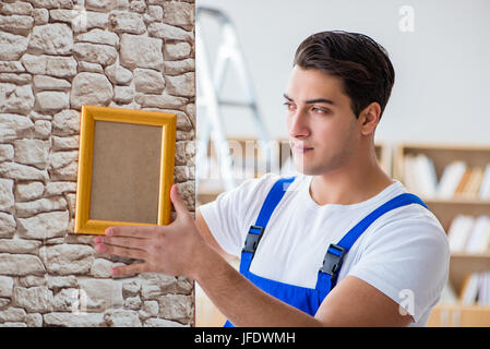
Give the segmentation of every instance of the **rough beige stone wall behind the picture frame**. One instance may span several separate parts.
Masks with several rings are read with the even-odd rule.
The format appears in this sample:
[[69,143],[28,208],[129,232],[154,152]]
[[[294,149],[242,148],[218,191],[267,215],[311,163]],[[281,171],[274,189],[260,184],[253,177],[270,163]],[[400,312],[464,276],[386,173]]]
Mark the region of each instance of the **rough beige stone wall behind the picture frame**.
[[177,113],[194,212],[194,71],[193,0],[0,2],[0,326],[194,324],[192,280],[112,278],[73,233],[84,104]]

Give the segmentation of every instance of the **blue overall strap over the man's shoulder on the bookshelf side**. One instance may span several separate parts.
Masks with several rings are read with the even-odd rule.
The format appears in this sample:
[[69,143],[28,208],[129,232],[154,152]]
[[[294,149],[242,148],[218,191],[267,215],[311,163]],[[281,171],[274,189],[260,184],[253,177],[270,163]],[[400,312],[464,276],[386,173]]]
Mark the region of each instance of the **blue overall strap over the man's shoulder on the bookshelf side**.
[[410,204],[419,204],[428,208],[427,205],[420,200],[420,197],[410,194],[403,193],[392,200],[387,201],[361,221],[359,221],[352,229],[350,229],[344,238],[337,244],[331,244],[325,253],[323,265],[319,270],[315,289],[323,293],[322,300],[334,288],[336,284],[336,277],[340,270],[344,255],[349,252],[356,240],[369,228],[369,226],[385,213]]

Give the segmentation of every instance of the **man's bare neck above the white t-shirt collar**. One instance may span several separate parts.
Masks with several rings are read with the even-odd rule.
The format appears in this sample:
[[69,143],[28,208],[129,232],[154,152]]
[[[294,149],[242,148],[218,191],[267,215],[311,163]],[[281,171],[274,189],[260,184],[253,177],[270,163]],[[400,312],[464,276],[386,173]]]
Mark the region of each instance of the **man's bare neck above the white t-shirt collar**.
[[313,176],[310,196],[319,205],[351,205],[375,196],[394,181],[374,158],[351,161],[340,169]]

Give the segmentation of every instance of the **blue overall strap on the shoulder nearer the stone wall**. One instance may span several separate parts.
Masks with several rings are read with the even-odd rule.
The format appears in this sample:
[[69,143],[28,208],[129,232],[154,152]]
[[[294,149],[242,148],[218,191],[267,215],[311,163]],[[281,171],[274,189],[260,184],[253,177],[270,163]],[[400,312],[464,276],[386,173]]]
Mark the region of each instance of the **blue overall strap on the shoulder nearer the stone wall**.
[[244,274],[249,270],[252,263],[253,255],[255,254],[259,241],[261,240],[265,227],[272,213],[276,208],[279,201],[283,198],[287,188],[295,180],[295,176],[290,178],[282,178],[277,180],[272,186],[271,191],[265,197],[264,204],[259,213],[255,225],[249,228],[243,250],[241,251],[240,273]]

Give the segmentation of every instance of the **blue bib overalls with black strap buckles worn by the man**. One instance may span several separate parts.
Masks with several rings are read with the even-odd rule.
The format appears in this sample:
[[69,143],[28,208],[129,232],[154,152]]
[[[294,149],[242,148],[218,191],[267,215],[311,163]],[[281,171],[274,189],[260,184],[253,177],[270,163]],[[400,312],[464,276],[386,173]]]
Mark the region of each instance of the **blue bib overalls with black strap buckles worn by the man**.
[[[357,238],[359,238],[378,217],[391,209],[409,204],[420,204],[426,208],[427,206],[419,197],[409,193],[401,194],[387,201],[359,221],[344,236],[344,238],[340,239],[337,244],[332,243],[328,246],[323,260],[323,265],[320,267],[318,273],[315,288],[284,284],[251,273],[250,264],[272,213],[295,178],[296,177],[279,179],[274,183],[273,188],[268,192],[259,213],[255,225],[251,226],[249,229],[249,233],[241,252],[240,273],[268,294],[314,316],[323,299],[335,286],[336,277],[340,270],[345,254],[356,242]],[[232,326],[234,325],[229,321],[225,323],[225,327]]]

